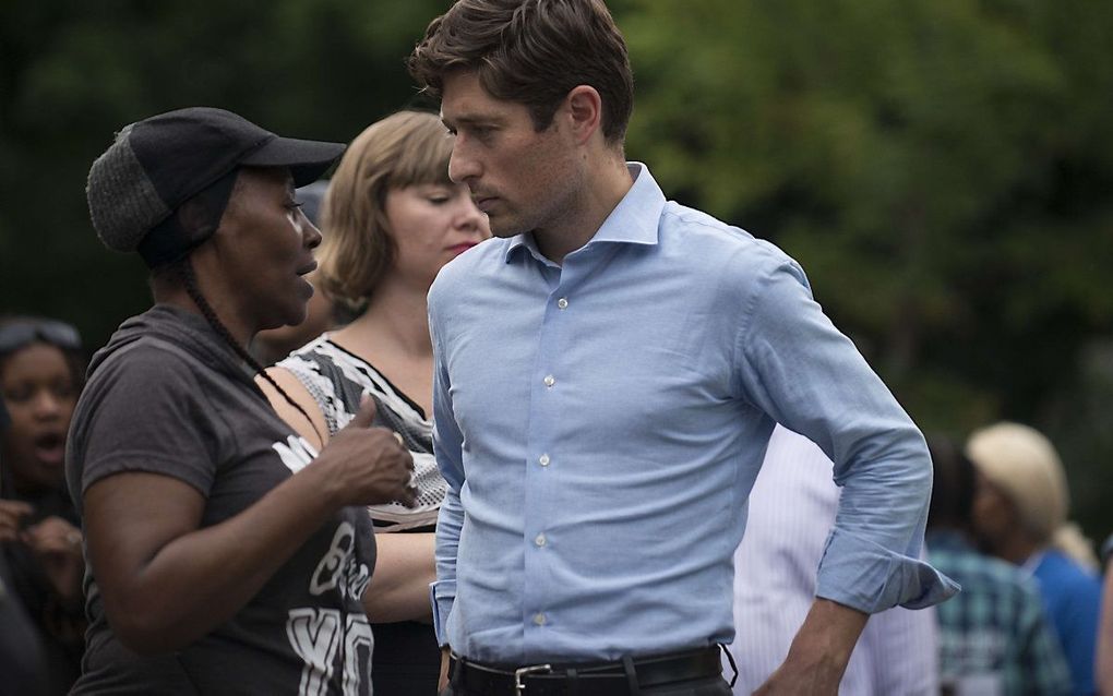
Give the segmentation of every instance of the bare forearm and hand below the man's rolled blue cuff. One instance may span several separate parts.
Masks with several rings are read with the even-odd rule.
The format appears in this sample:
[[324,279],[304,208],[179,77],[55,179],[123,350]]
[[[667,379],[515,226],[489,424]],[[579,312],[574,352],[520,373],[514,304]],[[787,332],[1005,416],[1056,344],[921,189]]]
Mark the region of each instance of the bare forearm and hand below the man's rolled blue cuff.
[[755,692],[778,694],[838,694],[850,653],[869,615],[829,599],[816,599],[788,648],[784,664]]

